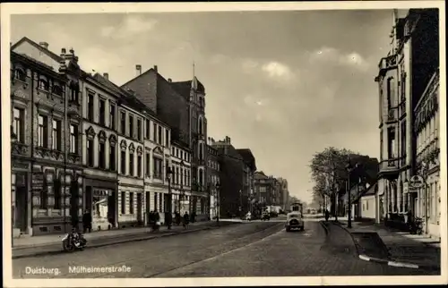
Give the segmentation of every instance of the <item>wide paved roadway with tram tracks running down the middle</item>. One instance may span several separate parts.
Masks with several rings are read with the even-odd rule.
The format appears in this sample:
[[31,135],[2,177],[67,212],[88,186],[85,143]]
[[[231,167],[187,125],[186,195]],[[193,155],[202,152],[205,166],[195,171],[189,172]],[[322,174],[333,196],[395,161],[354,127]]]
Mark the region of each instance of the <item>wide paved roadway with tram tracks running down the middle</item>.
[[[340,241],[345,241],[340,239]],[[168,238],[71,254],[13,260],[13,277],[229,277],[304,275],[418,275],[419,270],[362,261],[349,242],[335,244],[317,221],[286,233],[280,221],[234,224]],[[71,267],[130,267],[124,273],[69,273]],[[30,275],[26,267],[58,268]]]

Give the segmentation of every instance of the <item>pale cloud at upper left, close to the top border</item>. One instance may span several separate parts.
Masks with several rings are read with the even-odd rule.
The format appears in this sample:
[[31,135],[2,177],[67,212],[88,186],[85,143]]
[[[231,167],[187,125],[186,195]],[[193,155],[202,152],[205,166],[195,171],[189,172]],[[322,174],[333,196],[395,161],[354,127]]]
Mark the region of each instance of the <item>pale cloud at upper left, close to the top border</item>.
[[125,38],[139,35],[153,30],[158,22],[157,20],[142,16],[127,15],[122,25],[102,27],[100,29],[100,35],[103,38]]

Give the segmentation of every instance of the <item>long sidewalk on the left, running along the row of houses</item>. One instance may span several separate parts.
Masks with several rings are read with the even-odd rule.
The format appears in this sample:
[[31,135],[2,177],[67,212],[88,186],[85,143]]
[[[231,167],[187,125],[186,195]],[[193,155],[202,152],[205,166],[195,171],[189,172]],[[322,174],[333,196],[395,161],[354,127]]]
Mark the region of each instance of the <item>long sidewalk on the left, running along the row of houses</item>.
[[[228,224],[236,223],[220,221],[220,226]],[[186,230],[182,225],[174,225],[171,230],[168,230],[166,226],[161,226],[159,232],[151,232],[149,227],[139,227],[85,233],[84,237],[88,241],[86,249],[89,249],[128,241],[143,241],[179,233],[191,233],[216,227],[218,227],[216,221],[203,221],[190,224]],[[65,234],[56,234],[13,239],[13,258],[26,258],[64,252],[61,244],[64,236]]]

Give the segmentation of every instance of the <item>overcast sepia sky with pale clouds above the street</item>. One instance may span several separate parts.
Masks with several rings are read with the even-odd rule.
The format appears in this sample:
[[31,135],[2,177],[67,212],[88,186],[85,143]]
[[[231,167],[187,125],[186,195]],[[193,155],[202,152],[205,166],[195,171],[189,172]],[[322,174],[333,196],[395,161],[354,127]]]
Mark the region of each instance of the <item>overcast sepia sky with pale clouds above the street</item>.
[[12,16],[12,41],[73,47],[82,68],[123,84],[158,65],[206,89],[209,136],[251,148],[258,170],[309,200],[308,163],[327,146],[379,157],[377,64],[392,11]]

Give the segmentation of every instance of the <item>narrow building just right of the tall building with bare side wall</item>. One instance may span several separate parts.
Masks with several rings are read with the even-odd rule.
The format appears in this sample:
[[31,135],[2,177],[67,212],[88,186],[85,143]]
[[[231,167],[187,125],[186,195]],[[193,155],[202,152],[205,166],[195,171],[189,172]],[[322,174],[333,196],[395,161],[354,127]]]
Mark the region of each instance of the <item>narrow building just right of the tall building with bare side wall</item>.
[[214,140],[210,137],[207,140],[207,188],[210,218],[213,219],[220,213],[220,156],[218,150],[211,146]]

